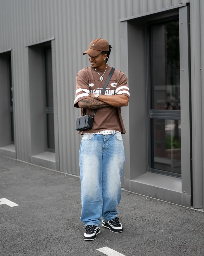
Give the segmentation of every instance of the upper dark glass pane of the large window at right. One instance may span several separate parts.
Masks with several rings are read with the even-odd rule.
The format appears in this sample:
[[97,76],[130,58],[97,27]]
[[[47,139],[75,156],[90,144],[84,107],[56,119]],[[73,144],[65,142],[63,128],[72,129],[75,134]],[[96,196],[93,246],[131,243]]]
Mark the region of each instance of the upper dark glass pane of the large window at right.
[[152,109],[180,110],[179,21],[151,27]]

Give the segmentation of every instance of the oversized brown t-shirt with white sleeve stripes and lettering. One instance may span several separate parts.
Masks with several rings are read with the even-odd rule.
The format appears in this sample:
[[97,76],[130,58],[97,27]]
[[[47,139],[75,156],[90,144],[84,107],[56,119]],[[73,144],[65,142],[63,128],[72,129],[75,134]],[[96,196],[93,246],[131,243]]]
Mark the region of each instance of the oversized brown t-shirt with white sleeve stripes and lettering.
[[[104,75],[103,73],[105,69],[100,71],[97,70],[101,76],[103,75],[103,81],[100,81],[99,74],[91,66],[83,68],[78,72],[76,79],[76,96],[74,100],[74,106],[76,108],[79,108],[78,101],[91,98],[90,94],[101,93],[111,68],[112,67],[107,65],[107,69]],[[122,71],[117,69],[115,69],[104,95],[115,94],[126,95],[130,98],[129,88],[127,86],[127,78]],[[92,115],[93,112],[93,109],[81,109],[82,116]],[[126,133],[120,107],[118,108],[107,106],[98,109],[94,116],[93,128],[86,130],[85,132],[93,133],[103,130],[115,130],[121,133]],[[83,132],[79,132],[79,134],[83,134]]]

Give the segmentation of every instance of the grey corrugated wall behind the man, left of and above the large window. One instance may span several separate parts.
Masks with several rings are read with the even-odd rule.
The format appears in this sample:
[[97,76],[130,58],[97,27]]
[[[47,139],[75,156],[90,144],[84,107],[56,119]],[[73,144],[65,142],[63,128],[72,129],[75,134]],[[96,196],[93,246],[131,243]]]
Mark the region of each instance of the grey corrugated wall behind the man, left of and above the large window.
[[105,38],[113,46],[109,65],[120,69],[119,19],[183,2],[188,1],[0,0],[0,52],[12,48],[17,158],[28,160],[26,45],[55,37],[60,170],[79,175],[81,136],[74,126],[80,111],[73,100],[77,72],[89,66],[82,52],[94,38]]

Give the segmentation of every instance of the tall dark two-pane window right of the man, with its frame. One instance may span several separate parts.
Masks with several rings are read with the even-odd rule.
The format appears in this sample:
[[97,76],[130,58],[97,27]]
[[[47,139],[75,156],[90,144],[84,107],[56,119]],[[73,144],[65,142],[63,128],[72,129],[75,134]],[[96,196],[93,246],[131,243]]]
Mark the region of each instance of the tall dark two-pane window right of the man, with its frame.
[[179,21],[157,23],[149,31],[150,170],[181,177]]

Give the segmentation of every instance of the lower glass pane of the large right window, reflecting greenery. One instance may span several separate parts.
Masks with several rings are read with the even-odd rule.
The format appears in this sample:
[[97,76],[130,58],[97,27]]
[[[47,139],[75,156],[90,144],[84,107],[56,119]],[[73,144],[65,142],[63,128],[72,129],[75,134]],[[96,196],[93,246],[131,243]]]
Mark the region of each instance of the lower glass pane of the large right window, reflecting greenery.
[[181,174],[181,121],[152,119],[152,168]]

